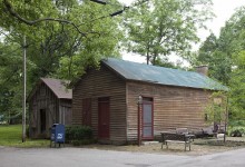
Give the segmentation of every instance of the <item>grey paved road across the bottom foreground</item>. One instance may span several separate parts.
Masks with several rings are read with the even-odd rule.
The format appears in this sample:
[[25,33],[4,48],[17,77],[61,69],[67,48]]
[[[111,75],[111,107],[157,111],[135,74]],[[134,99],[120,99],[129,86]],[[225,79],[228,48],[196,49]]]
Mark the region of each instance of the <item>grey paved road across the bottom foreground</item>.
[[0,167],[244,167],[245,149],[205,156],[0,146]]

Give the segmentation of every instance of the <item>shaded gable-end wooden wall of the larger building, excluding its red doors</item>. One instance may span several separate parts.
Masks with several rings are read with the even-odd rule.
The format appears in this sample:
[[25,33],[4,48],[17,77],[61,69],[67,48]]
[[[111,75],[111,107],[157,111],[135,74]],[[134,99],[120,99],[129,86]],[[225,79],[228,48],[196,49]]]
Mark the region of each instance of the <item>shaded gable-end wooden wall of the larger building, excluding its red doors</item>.
[[126,141],[126,82],[107,67],[87,71],[77,82],[72,91],[72,124],[82,125],[82,99],[90,98],[91,127],[98,137],[98,98],[101,97],[110,99],[110,137],[106,143]]

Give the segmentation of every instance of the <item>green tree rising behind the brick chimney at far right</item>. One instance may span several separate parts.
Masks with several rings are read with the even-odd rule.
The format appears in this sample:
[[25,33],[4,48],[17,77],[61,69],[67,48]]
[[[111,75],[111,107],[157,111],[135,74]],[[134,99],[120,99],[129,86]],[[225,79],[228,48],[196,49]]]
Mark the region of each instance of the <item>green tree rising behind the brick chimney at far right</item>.
[[210,77],[229,85],[232,67],[236,66],[234,52],[245,49],[243,39],[245,8],[238,9],[220,30],[219,38],[213,33],[204,41],[198,51],[197,62],[208,65]]

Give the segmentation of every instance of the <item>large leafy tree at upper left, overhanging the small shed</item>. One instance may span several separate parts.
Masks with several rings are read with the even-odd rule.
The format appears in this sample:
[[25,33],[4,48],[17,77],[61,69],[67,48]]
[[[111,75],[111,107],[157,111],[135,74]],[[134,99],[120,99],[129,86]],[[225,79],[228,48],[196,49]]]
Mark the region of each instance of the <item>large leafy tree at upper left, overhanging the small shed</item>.
[[28,91],[40,77],[74,80],[87,67],[98,66],[102,57],[119,56],[120,18],[110,17],[119,9],[117,6],[89,0],[0,2],[0,85],[4,88],[0,100],[11,102],[1,102],[1,111],[20,111],[23,35],[28,46]]

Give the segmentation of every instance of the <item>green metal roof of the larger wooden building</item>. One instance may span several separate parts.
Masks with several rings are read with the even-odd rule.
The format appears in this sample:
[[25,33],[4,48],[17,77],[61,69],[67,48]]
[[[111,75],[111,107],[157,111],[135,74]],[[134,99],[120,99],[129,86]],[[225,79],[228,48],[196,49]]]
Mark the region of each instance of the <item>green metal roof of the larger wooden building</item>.
[[219,82],[193,71],[137,63],[115,58],[104,59],[102,63],[128,80],[198,89],[228,90],[227,87]]

